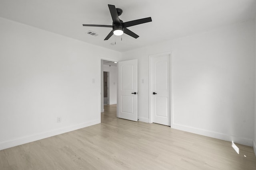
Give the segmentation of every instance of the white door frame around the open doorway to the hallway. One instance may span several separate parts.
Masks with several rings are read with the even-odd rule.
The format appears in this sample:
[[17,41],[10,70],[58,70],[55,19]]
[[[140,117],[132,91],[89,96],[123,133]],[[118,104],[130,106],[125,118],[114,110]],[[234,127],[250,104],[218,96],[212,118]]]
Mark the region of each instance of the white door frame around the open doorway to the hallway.
[[[98,60],[98,70],[99,70],[99,72],[98,72],[98,82],[100,82],[100,83],[98,83],[99,84],[99,86],[98,86],[98,104],[99,104],[99,106],[98,106],[98,119],[99,119],[99,122],[98,123],[101,123],[101,86],[102,86],[102,84],[101,84],[101,72],[103,71],[103,70],[101,70],[101,60],[107,60],[107,61],[112,61],[112,62],[117,62],[117,66],[118,66],[118,60],[115,60],[115,59],[111,59],[111,58],[108,58],[108,57],[103,57],[103,56],[100,56],[99,57],[99,60]],[[117,100],[118,100],[118,82],[117,82]],[[116,101],[117,102],[117,104],[118,104],[118,101]],[[117,112],[117,114],[118,114],[118,107],[116,107],[116,112]]]

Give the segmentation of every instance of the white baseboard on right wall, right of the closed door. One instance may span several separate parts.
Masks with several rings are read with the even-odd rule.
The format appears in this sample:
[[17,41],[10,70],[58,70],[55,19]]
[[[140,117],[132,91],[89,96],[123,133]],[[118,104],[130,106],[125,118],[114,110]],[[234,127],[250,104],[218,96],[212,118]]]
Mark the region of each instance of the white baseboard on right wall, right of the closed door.
[[246,145],[246,146],[250,146],[250,147],[252,147],[252,145],[253,145],[252,139],[246,139],[246,138],[232,136],[232,135],[228,135],[228,134],[224,134],[224,133],[218,133],[218,132],[214,132],[214,131],[206,131],[204,129],[198,129],[198,128],[194,128],[194,127],[178,125],[175,123],[172,125],[172,128],[190,132],[190,133],[196,133],[198,135],[204,135],[207,137],[213,137],[213,138],[221,139],[224,141],[230,141],[230,142],[234,141],[234,143],[238,143],[238,144],[242,144],[242,145]]

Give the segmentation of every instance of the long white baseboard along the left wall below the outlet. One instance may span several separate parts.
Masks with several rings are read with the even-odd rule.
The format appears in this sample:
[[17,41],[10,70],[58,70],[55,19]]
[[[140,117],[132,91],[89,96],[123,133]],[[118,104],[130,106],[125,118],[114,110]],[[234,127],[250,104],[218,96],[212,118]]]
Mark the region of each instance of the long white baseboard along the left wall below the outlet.
[[55,135],[60,135],[62,133],[74,131],[74,130],[81,129],[81,128],[88,127],[88,126],[92,126],[92,125],[96,125],[98,123],[100,123],[99,120],[94,120],[94,121],[90,121],[90,122],[80,123],[78,125],[64,127],[64,128],[61,128],[61,129],[55,129],[54,131],[48,131],[48,132],[44,132],[44,133],[40,133],[40,134],[36,134],[36,135],[21,137],[21,138],[14,139],[14,140],[11,140],[11,141],[5,141],[3,143],[0,143],[0,150],[15,147],[15,146],[22,145],[22,144],[25,144],[25,143],[38,141],[40,139],[45,139],[45,138],[52,137],[52,136],[55,136]]

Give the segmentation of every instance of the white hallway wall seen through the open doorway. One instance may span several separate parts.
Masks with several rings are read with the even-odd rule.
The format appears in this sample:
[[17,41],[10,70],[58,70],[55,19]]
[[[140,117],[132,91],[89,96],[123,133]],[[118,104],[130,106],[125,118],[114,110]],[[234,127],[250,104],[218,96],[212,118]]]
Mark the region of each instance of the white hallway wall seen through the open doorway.
[[116,104],[116,92],[117,92],[117,67],[103,65],[103,71],[109,72],[109,104]]

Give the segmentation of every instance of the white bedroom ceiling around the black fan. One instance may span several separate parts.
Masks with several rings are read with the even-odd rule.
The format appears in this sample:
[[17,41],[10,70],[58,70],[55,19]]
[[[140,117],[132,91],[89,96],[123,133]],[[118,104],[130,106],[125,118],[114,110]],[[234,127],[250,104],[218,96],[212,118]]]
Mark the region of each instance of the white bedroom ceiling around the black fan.
[[[124,22],[152,17],[152,22],[129,27],[126,34],[104,41],[112,28],[108,4],[123,10]],[[129,51],[232,23],[253,19],[256,0],[0,0],[0,17],[112,49]],[[94,31],[94,37],[86,34]],[[115,44],[116,41],[116,45]]]

